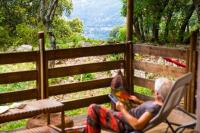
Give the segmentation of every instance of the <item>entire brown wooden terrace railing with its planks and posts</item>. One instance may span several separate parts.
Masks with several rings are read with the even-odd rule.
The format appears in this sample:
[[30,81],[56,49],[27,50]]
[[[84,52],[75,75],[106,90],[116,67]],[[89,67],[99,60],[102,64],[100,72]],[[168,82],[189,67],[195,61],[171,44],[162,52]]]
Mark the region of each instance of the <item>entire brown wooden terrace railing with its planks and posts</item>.
[[[194,43],[194,41],[191,41],[191,43]],[[179,77],[188,71],[192,71],[193,73],[195,72],[193,66],[191,66],[191,64],[193,64],[191,63],[191,61],[194,61],[192,59],[194,59],[195,56],[193,55],[193,53],[195,53],[195,50],[192,48],[166,48],[126,42],[83,48],[45,50],[44,32],[39,32],[39,45],[39,51],[0,54],[0,65],[25,62],[34,62],[36,65],[35,70],[0,74],[0,84],[36,81],[36,88],[15,92],[0,93],[0,104],[31,99],[44,99],[50,96],[60,94],[69,94],[86,90],[106,88],[110,86],[112,77],[62,85],[49,85],[49,79],[84,73],[95,73],[121,69],[121,64],[123,64],[125,78],[127,81],[126,87],[129,88],[128,91],[143,98],[144,100],[149,99],[149,97],[134,92],[133,84],[153,89],[154,81],[134,76],[134,69],[171,77]],[[134,60],[133,56],[135,53],[153,55],[158,57],[174,57],[183,59],[186,61],[188,67],[179,68],[136,61]],[[104,61],[90,64],[48,68],[48,62],[52,60],[71,59],[89,56],[102,56],[108,54],[123,54],[124,58],[122,60],[117,61]],[[184,103],[185,107],[188,110],[194,111],[194,109],[192,109],[194,107],[190,106],[191,103],[194,101],[191,101],[190,97],[192,95],[195,95],[195,88],[192,84],[190,87],[193,87],[193,89],[190,89],[190,91],[187,92],[187,96],[185,97]],[[65,105],[65,110],[71,110],[81,107],[87,107],[91,103],[102,104],[107,102],[109,102],[107,95],[101,95],[96,97],[88,97],[84,99],[67,101],[63,103]]]

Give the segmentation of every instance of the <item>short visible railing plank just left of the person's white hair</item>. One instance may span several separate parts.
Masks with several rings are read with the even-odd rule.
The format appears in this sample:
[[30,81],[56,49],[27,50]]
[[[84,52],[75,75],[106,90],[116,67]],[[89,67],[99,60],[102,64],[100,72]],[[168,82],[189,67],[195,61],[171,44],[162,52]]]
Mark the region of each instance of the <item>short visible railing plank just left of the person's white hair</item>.
[[134,77],[134,83],[137,86],[142,86],[154,90],[154,81],[150,79],[144,79],[139,77]]

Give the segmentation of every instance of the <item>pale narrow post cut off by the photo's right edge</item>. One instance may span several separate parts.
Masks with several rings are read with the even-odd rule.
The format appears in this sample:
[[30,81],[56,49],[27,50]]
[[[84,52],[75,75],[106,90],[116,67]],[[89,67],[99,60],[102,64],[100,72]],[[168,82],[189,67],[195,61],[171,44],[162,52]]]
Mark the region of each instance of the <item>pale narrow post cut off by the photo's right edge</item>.
[[196,130],[200,132],[200,34],[198,35],[198,58],[197,58],[197,97],[196,97],[196,105],[197,105],[197,126]]

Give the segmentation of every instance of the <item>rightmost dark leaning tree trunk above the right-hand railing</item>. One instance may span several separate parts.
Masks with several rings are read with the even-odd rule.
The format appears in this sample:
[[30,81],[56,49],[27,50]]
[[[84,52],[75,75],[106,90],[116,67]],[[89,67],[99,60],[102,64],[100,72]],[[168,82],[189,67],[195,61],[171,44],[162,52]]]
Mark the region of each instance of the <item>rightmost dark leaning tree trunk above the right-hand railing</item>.
[[194,6],[194,4],[192,4],[188,8],[188,10],[186,11],[186,16],[185,16],[185,18],[184,18],[184,20],[182,22],[182,25],[181,25],[181,28],[180,28],[180,31],[179,31],[179,37],[178,37],[179,38],[178,39],[179,42],[183,42],[185,29],[186,29],[186,27],[188,25],[188,22],[189,22],[189,20],[190,20],[190,18],[192,16],[194,10],[195,10],[195,6]]

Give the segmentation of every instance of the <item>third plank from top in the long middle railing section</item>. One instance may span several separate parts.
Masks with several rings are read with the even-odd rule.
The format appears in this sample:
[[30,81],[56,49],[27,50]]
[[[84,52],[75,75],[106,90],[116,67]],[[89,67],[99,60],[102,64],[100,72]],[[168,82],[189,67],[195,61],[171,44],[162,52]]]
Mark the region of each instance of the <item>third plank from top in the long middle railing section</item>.
[[109,87],[112,78],[49,87],[49,96]]

